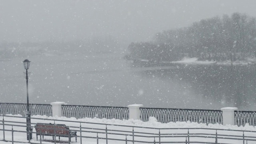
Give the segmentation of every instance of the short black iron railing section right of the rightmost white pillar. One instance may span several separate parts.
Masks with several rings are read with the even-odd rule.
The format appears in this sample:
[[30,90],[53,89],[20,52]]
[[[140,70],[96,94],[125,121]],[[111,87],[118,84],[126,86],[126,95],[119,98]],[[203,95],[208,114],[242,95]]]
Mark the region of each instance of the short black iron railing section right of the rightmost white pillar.
[[245,126],[248,123],[250,126],[256,126],[256,112],[254,111],[237,111],[235,110],[235,124]]

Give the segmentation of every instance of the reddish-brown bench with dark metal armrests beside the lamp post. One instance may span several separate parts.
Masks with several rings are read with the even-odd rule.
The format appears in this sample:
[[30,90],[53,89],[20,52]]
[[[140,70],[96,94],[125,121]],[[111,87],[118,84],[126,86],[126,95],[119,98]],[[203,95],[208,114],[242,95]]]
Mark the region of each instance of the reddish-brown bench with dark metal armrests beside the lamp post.
[[[68,137],[68,140],[71,141],[72,137],[76,137],[76,132],[71,132],[69,128],[65,124],[43,124],[37,123],[36,126],[36,140],[38,140],[38,135],[44,136],[52,136],[52,140],[54,140],[54,135],[59,137]],[[54,131],[55,129],[55,131]]]

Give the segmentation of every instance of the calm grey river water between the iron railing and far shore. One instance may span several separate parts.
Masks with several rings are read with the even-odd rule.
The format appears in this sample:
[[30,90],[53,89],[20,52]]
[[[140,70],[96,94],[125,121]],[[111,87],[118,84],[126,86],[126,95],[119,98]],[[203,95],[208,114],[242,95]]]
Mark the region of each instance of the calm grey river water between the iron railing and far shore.
[[[256,66],[136,67],[121,53],[30,56],[30,103],[256,110]],[[1,61],[0,102],[26,103],[22,61]]]

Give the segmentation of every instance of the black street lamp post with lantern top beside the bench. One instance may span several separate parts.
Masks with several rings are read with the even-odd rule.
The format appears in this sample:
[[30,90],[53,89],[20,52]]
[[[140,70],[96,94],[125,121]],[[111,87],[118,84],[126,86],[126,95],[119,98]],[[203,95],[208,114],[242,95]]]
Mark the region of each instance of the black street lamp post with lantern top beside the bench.
[[31,131],[31,120],[30,120],[30,111],[29,111],[29,103],[28,103],[28,68],[30,65],[29,60],[24,60],[23,61],[24,68],[26,70],[26,80],[27,80],[27,111],[26,111],[26,122],[27,122],[27,140],[31,140],[32,136],[30,136],[30,131]]

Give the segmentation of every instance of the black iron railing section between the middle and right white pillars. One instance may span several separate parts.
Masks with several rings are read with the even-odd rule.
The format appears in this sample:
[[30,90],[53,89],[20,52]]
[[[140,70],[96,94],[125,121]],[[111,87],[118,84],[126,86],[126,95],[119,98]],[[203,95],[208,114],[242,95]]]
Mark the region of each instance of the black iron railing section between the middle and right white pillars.
[[178,108],[140,108],[140,119],[148,121],[150,116],[154,116],[158,122],[198,122],[206,124],[222,124],[221,110],[196,110]]

